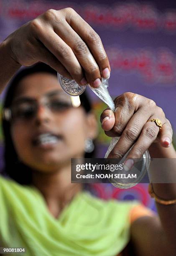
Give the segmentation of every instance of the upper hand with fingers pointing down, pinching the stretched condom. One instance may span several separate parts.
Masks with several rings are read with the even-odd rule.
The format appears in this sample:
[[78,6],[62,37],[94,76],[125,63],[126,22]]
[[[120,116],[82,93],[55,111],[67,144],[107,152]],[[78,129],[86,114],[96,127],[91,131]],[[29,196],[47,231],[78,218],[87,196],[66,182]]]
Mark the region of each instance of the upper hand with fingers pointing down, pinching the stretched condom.
[[30,66],[42,61],[60,74],[98,87],[110,64],[98,34],[72,8],[48,10],[5,40],[10,56]]

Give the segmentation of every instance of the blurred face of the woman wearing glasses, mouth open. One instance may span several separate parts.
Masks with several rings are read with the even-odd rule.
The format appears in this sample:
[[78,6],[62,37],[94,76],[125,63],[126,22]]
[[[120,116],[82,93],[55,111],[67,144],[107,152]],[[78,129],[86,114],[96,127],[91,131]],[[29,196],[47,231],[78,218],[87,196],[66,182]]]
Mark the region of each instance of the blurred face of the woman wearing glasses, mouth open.
[[[53,109],[45,106],[51,102],[56,103]],[[94,121],[90,120],[93,116],[87,115],[82,107],[72,107],[69,95],[61,90],[56,76],[36,73],[20,81],[13,106],[25,110],[33,105],[38,105],[35,115],[15,118],[11,124],[19,159],[32,169],[51,172],[71,158],[83,157],[84,141],[94,137],[96,125],[93,131]]]

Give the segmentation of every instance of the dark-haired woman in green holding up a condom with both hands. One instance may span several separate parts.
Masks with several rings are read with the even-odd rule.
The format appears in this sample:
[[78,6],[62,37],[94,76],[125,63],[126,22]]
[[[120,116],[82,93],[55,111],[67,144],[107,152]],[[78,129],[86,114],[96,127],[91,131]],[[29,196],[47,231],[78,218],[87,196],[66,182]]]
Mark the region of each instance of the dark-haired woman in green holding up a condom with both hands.
[[[64,53],[62,56],[53,51],[55,48],[51,49],[49,43],[53,43],[52,46],[56,47],[54,44],[56,35],[50,34],[50,25],[56,26],[56,12],[52,10],[41,15],[35,22],[19,28],[3,42],[0,47],[2,87],[21,64],[30,65],[38,61],[48,62],[50,66],[68,77],[71,74],[71,77],[78,82],[86,79],[94,87],[99,86],[97,79],[100,79],[101,75],[104,77],[109,75],[107,59],[101,56],[98,58],[98,51],[99,53],[104,51],[97,50],[97,44],[92,44],[91,53],[87,50],[82,51],[87,49],[85,48],[87,45],[79,46],[81,51],[78,54],[78,63],[74,57],[77,53],[74,47],[70,46],[69,54],[72,55],[74,52],[76,54],[72,55],[73,59],[69,59],[72,61],[70,67],[66,64],[68,59],[67,51],[64,52],[66,48],[61,48]],[[90,28],[78,29],[79,16],[70,9],[58,13],[62,14],[60,20],[63,28],[66,22],[71,24],[71,32],[77,31],[89,44],[85,31]],[[48,36],[42,33],[41,28],[44,25],[51,35],[49,38],[51,42]],[[87,26],[85,23],[83,25]],[[64,38],[65,31],[70,31],[70,27],[66,27],[64,31],[61,27],[59,26],[58,31],[59,29],[60,31],[57,31],[57,34]],[[54,30],[56,31],[56,27]],[[34,40],[36,37],[40,38],[44,46],[41,41]],[[20,38],[23,38],[23,41],[20,41]],[[57,40],[59,38],[58,36]],[[99,38],[96,40],[97,43]],[[61,44],[64,42],[68,43],[67,46],[71,45],[69,33]],[[39,45],[41,51],[38,53]],[[27,47],[28,51],[24,47]],[[51,50],[54,55],[51,55]],[[94,56],[93,59],[91,54]],[[65,56],[64,60],[63,56]],[[83,56],[89,59],[88,64],[84,62]],[[100,59],[103,61],[101,62]],[[99,68],[87,68],[93,67],[91,65],[94,64]],[[76,68],[78,68],[77,72],[74,73]],[[86,78],[82,77],[82,69]],[[6,72],[3,74],[3,71]],[[155,194],[164,202],[168,202],[168,205],[162,205],[161,201],[158,201],[159,218],[145,210],[140,215],[141,218],[136,218],[133,217],[136,214],[133,214],[136,206],[130,202],[117,203],[114,200],[104,202],[92,197],[82,191],[80,184],[71,184],[70,159],[83,157],[85,140],[96,136],[94,116],[91,113],[85,114],[82,107],[77,109],[71,107],[69,96],[61,91],[57,78],[52,72],[40,70],[28,73],[21,79],[16,79],[11,88],[13,93],[9,92],[5,101],[6,110],[10,110],[5,111],[6,145],[9,142],[14,147],[14,154],[18,156],[18,162],[21,162],[18,166],[23,166],[24,169],[21,171],[23,174],[28,173],[28,178],[31,174],[31,181],[27,179],[25,182],[30,181],[28,185],[20,185],[13,180],[0,178],[2,246],[24,247],[26,255],[109,256],[121,253],[130,241],[132,245],[130,250],[136,255],[175,255],[176,205],[169,201],[176,198],[175,185],[153,184]],[[120,141],[111,152],[111,157],[122,156],[134,141],[136,141],[135,146],[126,162],[129,169],[133,165],[133,159],[140,157],[147,148],[152,157],[176,157],[171,144],[171,125],[165,118],[163,110],[152,100],[133,93],[125,93],[115,99],[115,105],[117,107],[115,113],[107,109],[101,117],[102,128],[109,136],[121,134]],[[158,125],[147,122],[151,118],[162,120],[163,127],[159,135]],[[10,162],[10,157],[6,157],[6,163]],[[12,160],[14,159],[15,155]],[[9,169],[8,172],[11,176],[14,174]],[[18,180],[18,182],[23,181]],[[135,221],[129,227],[132,217]]]

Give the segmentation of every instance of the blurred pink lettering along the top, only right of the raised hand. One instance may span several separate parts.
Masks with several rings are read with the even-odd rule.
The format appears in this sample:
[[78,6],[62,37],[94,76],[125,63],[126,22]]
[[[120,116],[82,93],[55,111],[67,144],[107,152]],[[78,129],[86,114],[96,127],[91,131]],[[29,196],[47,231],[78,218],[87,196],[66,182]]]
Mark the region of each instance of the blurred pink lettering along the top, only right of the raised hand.
[[176,11],[173,9],[162,15],[149,4],[126,3],[113,8],[88,5],[82,9],[82,15],[89,23],[111,28],[133,27],[143,32],[158,29],[176,31]]

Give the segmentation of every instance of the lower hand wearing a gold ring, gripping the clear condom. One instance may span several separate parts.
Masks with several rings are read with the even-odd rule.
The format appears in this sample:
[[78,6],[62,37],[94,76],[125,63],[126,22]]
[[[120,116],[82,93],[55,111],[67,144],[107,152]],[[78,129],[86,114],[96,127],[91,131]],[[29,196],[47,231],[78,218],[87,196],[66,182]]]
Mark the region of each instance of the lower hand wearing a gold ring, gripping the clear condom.
[[[126,92],[115,98],[115,112],[106,109],[101,115],[102,128],[107,136],[117,137],[117,142],[109,157],[120,158],[135,143],[128,154],[125,165],[130,169],[134,159],[139,159],[152,143],[159,143],[162,147],[169,147],[172,142],[172,127],[166,119],[163,110],[153,100],[144,96]],[[162,129],[155,122],[148,122],[159,118]]]

